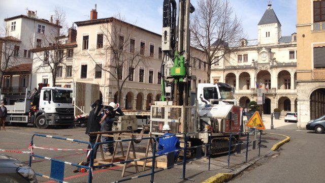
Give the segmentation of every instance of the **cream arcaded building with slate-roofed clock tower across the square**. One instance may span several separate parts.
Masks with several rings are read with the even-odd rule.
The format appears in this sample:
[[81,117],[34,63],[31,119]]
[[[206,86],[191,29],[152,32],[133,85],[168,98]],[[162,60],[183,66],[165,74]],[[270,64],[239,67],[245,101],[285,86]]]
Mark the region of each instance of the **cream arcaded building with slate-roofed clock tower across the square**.
[[281,23],[269,4],[258,22],[256,40],[240,40],[236,53],[220,59],[211,70],[212,82],[236,87],[237,104],[248,108],[257,101],[257,88],[263,89],[263,113],[275,108],[297,111],[297,35],[281,35]]

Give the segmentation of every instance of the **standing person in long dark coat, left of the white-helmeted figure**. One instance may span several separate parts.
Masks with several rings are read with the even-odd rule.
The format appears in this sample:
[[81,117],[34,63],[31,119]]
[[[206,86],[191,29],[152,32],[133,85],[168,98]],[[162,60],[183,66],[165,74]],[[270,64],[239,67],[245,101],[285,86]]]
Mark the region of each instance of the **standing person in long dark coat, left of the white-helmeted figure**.
[[[96,143],[97,135],[90,135],[90,132],[100,132],[101,131],[101,110],[103,108],[102,101],[101,100],[96,100],[93,104],[91,104],[92,110],[89,112],[88,116],[88,121],[87,121],[87,128],[86,128],[86,134],[89,135],[89,142],[91,145],[94,145]],[[92,148],[90,144],[88,144],[88,149]],[[97,149],[98,146],[94,149],[94,159],[96,159],[96,154],[97,154]],[[88,155],[87,150],[87,163],[86,165],[89,164],[90,162],[90,155]]]

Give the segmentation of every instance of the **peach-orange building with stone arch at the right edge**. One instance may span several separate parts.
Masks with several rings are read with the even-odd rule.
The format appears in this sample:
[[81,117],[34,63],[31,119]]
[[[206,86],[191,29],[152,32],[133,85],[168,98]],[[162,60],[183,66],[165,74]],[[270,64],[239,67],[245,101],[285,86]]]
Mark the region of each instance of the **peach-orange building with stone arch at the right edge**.
[[297,1],[298,128],[325,114],[325,1]]

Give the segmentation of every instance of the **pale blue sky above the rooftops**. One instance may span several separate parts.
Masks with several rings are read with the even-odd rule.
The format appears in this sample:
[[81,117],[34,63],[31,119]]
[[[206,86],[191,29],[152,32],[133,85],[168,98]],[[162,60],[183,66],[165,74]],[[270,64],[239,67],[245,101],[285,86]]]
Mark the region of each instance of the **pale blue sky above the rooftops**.
[[[148,31],[161,34],[163,26],[164,0],[0,0],[0,19],[17,15],[26,15],[26,9],[37,11],[38,18],[50,19],[55,7],[66,11],[69,26],[72,22],[89,19],[90,10],[97,5],[98,18],[112,17],[120,14],[124,21],[135,24]],[[191,0],[196,7],[198,0]],[[297,0],[229,0],[234,13],[241,20],[243,31],[248,39],[257,39],[257,24],[261,20],[267,5],[277,15],[282,29],[282,36],[296,33]],[[176,2],[178,2],[176,0]]]

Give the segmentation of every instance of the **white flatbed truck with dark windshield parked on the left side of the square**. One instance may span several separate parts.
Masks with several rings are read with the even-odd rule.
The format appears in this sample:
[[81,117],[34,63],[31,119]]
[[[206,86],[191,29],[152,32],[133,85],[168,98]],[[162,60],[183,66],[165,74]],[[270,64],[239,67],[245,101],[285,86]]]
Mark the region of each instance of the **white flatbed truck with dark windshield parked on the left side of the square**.
[[26,89],[24,102],[6,105],[9,123],[34,124],[37,128],[73,125],[73,90],[64,87],[44,87],[43,83],[34,91]]

